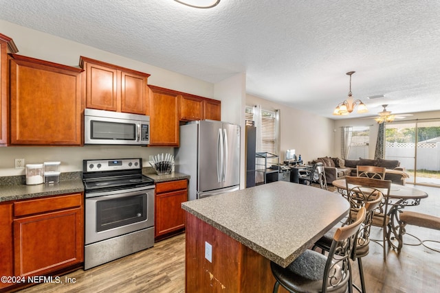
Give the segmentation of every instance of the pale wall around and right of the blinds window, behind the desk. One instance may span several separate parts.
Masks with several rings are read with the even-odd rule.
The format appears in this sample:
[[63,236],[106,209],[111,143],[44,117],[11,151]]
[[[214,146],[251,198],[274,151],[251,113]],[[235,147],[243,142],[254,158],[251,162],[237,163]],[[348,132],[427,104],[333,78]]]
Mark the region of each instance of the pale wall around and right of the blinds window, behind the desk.
[[332,119],[276,104],[253,95],[246,96],[247,106],[258,104],[265,110],[280,110],[280,161],[285,159],[286,150],[290,149],[294,149],[297,156],[301,154],[305,163],[318,158],[318,156],[333,155],[335,132],[333,132],[334,121]]

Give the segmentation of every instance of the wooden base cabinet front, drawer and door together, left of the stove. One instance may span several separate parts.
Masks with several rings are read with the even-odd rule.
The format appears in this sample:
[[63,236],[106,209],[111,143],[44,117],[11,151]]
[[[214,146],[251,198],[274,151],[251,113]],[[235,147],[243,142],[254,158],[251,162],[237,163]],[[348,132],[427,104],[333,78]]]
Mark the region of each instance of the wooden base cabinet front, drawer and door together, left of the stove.
[[14,274],[43,275],[84,261],[83,194],[14,202]]

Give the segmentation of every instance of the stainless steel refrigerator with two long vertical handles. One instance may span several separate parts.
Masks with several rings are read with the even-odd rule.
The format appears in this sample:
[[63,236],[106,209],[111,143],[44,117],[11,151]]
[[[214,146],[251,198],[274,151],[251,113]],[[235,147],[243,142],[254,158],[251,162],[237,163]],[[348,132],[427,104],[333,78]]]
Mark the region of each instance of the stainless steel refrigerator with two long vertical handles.
[[175,171],[190,175],[188,200],[238,190],[240,126],[212,120],[180,126]]

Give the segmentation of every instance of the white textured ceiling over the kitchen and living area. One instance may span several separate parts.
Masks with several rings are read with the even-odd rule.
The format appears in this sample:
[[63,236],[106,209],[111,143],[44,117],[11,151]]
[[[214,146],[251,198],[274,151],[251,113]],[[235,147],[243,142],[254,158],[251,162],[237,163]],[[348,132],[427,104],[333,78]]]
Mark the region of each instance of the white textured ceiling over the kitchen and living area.
[[437,0],[0,0],[5,21],[208,82],[244,72],[247,93],[336,119],[347,71],[370,110],[349,117],[440,110],[439,15]]

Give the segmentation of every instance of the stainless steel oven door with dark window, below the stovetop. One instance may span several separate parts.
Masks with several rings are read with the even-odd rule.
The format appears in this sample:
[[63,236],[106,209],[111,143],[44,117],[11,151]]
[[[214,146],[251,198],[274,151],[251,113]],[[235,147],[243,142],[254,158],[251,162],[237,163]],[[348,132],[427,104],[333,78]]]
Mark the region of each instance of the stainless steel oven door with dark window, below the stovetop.
[[93,195],[85,198],[85,244],[154,226],[154,188]]

